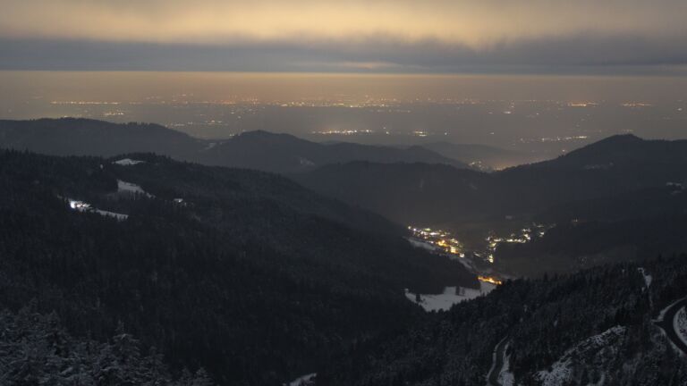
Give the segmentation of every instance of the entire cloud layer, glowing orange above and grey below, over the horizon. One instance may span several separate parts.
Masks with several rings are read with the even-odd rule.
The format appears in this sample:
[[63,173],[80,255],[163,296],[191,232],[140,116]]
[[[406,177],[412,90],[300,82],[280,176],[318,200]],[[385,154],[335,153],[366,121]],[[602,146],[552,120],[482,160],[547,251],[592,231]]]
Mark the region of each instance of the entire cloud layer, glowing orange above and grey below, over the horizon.
[[4,0],[0,69],[683,74],[687,2]]

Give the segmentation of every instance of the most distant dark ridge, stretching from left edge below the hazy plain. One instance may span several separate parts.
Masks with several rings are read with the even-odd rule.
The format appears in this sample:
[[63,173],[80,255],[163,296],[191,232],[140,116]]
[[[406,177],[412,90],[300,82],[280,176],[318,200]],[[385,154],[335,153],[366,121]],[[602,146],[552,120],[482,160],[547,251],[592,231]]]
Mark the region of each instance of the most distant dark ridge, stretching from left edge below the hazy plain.
[[85,119],[0,121],[0,147],[47,155],[169,155],[199,164],[266,172],[304,172],[324,164],[369,161],[466,164],[423,147],[400,149],[353,143],[320,144],[288,134],[249,131],[226,140],[201,140],[157,124]]

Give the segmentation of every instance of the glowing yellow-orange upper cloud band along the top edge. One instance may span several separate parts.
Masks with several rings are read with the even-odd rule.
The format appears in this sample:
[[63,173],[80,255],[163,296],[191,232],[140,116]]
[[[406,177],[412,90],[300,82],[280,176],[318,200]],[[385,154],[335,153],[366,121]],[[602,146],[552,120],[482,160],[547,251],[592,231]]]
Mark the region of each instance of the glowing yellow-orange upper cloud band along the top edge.
[[685,32],[687,14],[682,0],[4,0],[2,8],[5,38],[307,44],[388,37],[473,48],[589,32],[672,36]]

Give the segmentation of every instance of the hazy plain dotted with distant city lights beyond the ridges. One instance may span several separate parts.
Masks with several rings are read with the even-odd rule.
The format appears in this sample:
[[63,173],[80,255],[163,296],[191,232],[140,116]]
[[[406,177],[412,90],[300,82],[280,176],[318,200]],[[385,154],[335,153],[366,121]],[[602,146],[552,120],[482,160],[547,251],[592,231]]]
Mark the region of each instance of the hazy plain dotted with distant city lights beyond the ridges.
[[0,77],[4,119],[154,122],[206,139],[267,130],[317,142],[482,144],[524,153],[514,159],[518,163],[614,134],[685,138],[687,119],[687,96],[677,92],[687,84],[680,86],[684,80],[674,77],[221,72],[3,72]]

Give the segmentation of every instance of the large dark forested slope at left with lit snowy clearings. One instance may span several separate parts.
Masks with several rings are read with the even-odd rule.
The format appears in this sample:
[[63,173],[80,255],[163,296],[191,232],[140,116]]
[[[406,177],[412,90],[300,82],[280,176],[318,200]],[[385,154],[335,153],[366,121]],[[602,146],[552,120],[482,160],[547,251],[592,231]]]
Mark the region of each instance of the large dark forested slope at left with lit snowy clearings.
[[290,180],[129,157],[142,162],[0,154],[0,306],[33,300],[101,342],[123,323],[174,376],[202,366],[271,385],[416,320],[404,288],[477,286],[386,220]]

